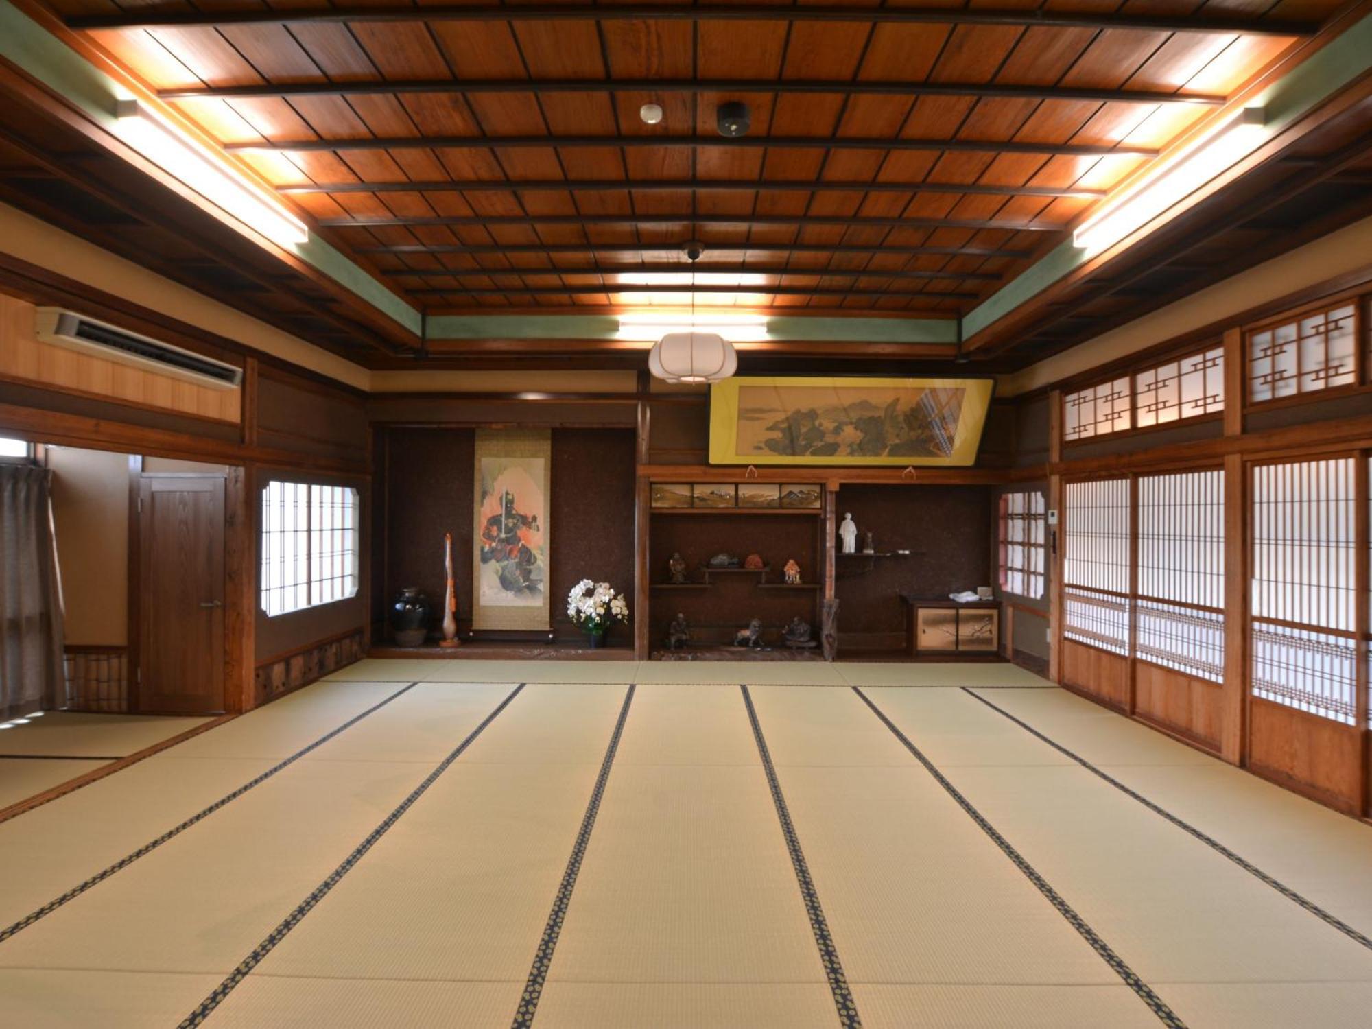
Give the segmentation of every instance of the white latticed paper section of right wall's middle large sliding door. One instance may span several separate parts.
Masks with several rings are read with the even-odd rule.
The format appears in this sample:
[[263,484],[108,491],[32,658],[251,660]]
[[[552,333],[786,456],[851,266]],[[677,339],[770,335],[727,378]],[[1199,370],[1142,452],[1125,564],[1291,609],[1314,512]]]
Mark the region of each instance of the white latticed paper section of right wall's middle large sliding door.
[[1139,479],[1135,654],[1224,681],[1224,472]]

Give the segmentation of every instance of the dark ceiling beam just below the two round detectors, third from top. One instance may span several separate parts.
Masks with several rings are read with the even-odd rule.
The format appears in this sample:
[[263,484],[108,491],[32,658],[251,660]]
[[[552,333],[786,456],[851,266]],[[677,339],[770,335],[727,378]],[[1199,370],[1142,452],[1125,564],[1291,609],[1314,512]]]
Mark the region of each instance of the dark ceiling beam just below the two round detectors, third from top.
[[229,151],[287,150],[527,150],[541,147],[757,147],[771,150],[912,150],[926,152],[1045,154],[1052,156],[1157,156],[1155,147],[1124,143],[1029,143],[1026,140],[858,139],[853,136],[373,136],[344,140],[252,140],[225,143]]

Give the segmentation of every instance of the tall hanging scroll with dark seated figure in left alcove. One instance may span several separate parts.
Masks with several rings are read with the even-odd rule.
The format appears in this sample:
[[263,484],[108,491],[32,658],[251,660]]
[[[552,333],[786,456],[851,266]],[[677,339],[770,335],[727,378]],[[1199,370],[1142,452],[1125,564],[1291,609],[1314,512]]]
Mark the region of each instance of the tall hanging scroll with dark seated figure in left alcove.
[[472,628],[546,630],[552,434],[476,429]]

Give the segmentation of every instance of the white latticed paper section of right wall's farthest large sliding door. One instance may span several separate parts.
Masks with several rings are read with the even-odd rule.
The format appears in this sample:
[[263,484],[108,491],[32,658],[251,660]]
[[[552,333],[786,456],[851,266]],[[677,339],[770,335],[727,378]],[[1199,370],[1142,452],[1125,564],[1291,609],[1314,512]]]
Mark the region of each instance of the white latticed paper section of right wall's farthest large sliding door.
[[1063,632],[1129,653],[1129,480],[1067,483],[1063,527]]

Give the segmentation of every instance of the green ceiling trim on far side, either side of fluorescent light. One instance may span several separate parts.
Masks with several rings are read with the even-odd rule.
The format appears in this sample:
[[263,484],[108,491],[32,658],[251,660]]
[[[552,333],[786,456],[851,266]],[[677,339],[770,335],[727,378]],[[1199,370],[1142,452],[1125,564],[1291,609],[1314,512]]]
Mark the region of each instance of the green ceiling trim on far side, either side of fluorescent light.
[[[711,314],[720,313],[715,309]],[[852,343],[958,342],[955,318],[801,318],[767,320],[777,339]],[[428,320],[427,339],[615,339],[613,314],[439,314]]]

